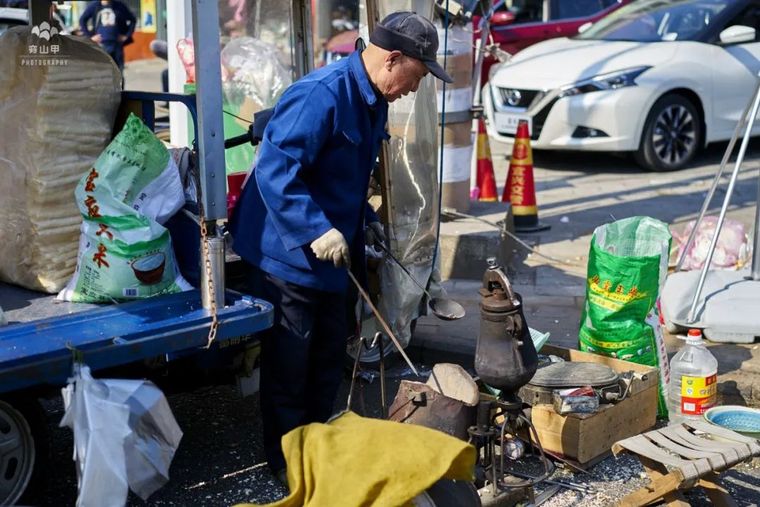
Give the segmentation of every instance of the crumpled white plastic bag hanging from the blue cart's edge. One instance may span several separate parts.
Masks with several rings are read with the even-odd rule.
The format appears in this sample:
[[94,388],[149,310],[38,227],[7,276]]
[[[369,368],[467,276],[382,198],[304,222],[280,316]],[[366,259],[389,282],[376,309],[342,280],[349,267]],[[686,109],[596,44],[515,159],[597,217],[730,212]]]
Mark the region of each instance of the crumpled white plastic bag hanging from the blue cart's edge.
[[168,482],[182,431],[152,382],[98,380],[82,365],[61,391],[60,426],[74,430],[77,507],[123,506],[128,489],[147,500]]

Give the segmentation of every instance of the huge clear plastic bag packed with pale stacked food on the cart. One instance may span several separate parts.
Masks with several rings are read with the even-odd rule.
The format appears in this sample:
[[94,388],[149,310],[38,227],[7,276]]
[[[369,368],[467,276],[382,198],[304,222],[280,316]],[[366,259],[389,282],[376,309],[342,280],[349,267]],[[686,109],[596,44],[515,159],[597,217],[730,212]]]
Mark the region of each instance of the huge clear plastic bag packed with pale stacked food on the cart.
[[111,138],[121,74],[94,43],[28,27],[0,53],[0,279],[54,293],[76,266],[74,188]]

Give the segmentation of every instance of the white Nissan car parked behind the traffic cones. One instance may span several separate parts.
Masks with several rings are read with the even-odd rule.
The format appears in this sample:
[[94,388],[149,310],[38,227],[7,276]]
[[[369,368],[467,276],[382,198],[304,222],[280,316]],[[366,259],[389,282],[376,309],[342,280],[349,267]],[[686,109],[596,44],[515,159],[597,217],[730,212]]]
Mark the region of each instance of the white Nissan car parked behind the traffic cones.
[[680,169],[731,138],[757,90],[759,32],[760,0],[637,0],[494,69],[488,132],[512,142],[527,120],[534,148],[634,152],[649,169]]

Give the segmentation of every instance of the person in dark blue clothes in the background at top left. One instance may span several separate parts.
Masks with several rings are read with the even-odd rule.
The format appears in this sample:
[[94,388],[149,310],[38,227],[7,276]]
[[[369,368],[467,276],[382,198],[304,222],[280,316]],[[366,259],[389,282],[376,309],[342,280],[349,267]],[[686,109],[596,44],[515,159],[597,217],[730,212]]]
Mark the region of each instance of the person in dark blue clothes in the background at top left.
[[135,31],[135,15],[119,0],[90,2],[79,17],[82,33],[100,45],[124,69],[124,46]]

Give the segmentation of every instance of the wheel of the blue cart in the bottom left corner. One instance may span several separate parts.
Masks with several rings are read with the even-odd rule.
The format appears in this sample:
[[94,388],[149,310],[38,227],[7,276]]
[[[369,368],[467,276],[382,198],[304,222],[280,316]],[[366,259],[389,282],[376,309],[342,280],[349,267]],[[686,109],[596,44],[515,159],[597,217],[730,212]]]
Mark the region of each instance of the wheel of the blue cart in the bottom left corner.
[[9,401],[0,400],[0,505],[33,503],[50,451],[45,413],[36,400]]

